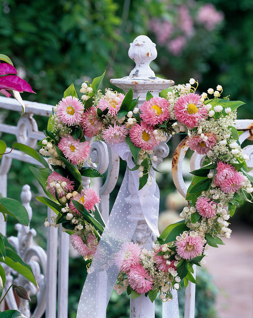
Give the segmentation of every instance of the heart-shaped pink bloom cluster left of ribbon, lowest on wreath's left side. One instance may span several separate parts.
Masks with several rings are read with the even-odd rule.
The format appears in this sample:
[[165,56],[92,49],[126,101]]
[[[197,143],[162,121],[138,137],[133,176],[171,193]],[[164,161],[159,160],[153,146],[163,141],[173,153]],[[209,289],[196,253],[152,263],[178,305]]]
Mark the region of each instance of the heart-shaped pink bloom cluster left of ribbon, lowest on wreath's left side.
[[70,243],[81,256],[86,256],[88,259],[94,256],[98,244],[96,237],[93,234],[88,237],[87,244],[83,242],[80,236],[72,234],[70,235]]

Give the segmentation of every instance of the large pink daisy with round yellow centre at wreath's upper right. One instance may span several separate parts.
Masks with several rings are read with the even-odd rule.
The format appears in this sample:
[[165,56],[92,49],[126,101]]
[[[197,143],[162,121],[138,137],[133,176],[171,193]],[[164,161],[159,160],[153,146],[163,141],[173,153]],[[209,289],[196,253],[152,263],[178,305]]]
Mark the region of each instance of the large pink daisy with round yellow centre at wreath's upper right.
[[199,119],[207,118],[208,112],[200,101],[201,96],[195,93],[180,96],[174,106],[176,119],[187,128],[196,127]]

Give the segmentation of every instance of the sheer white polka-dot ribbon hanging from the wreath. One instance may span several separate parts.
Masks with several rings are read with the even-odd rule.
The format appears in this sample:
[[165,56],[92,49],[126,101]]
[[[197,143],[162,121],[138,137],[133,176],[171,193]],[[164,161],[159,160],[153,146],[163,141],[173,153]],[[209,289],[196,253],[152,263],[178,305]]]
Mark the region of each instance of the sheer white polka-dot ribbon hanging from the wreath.
[[[123,160],[126,160],[130,169],[134,167],[131,159],[132,155],[126,142],[113,145],[111,148]],[[155,182],[152,182],[151,187],[145,185],[141,190],[138,190],[139,177],[137,172],[126,169],[106,228],[92,260],[90,273],[87,275],[83,286],[77,309],[77,318],[104,317],[119,274],[113,256],[120,250],[120,246],[124,242],[131,241],[141,214],[143,214],[154,234],[159,235],[157,228],[160,197],[158,186]],[[155,180],[155,171],[151,169],[150,173]]]

